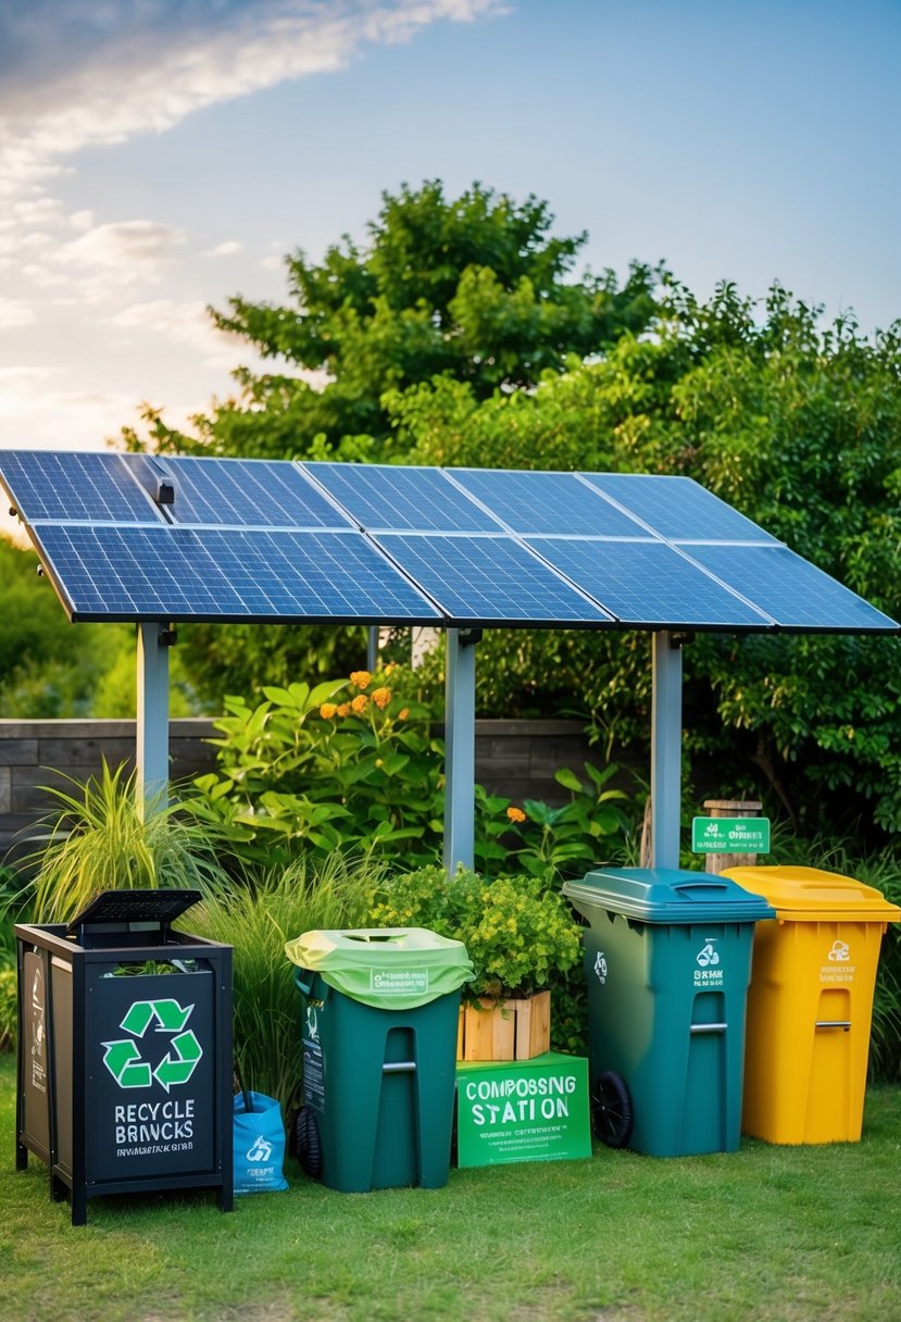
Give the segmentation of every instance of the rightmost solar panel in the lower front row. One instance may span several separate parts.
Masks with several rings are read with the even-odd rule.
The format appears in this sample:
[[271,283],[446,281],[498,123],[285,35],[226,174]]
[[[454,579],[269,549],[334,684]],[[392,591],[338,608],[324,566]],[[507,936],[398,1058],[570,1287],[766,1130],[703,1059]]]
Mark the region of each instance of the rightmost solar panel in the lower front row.
[[691,546],[691,558],[766,611],[783,629],[881,632],[897,628],[856,592],[786,546]]

